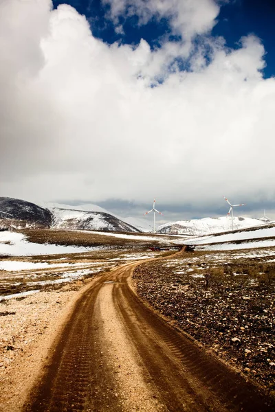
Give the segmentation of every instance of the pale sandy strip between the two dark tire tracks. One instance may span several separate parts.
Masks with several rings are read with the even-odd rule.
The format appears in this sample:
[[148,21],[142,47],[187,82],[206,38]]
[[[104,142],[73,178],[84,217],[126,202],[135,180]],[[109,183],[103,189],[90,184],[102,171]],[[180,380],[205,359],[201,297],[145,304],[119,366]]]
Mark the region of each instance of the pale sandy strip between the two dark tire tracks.
[[98,294],[98,306],[102,319],[102,348],[108,359],[109,372],[115,376],[116,394],[120,400],[120,411],[140,410],[166,411],[163,405],[153,398],[155,387],[148,385],[142,360],[131,336],[126,334],[123,323],[113,304],[115,283],[104,284]]

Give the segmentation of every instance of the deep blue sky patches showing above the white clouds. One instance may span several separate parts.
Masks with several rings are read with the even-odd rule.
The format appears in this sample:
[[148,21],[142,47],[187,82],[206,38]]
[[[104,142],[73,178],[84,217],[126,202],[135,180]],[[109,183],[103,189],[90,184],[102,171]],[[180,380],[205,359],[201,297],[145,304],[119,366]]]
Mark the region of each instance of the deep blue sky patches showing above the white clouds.
[[[63,1],[53,1],[54,8]],[[115,25],[107,18],[109,5],[101,0],[67,0],[80,14],[84,14],[91,23],[94,36],[111,44],[119,41],[123,44],[137,45],[144,38],[151,47],[159,46],[162,36],[170,33],[168,20],[151,19],[146,25],[137,24],[137,16],[120,16],[124,34],[115,33]],[[236,49],[242,36],[254,34],[261,39],[265,47],[266,67],[264,77],[275,76],[275,1],[274,0],[228,0],[218,1],[220,12],[217,24],[212,29],[212,36],[223,36],[228,47]],[[177,41],[177,36],[170,34]]]

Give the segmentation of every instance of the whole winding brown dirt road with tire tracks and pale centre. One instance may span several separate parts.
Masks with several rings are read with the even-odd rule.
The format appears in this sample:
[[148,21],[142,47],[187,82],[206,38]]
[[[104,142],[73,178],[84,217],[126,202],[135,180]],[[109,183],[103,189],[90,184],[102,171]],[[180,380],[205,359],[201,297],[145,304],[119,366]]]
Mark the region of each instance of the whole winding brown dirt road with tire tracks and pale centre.
[[127,282],[135,265],[82,295],[25,411],[271,411],[255,387],[142,304]]

